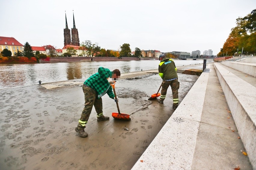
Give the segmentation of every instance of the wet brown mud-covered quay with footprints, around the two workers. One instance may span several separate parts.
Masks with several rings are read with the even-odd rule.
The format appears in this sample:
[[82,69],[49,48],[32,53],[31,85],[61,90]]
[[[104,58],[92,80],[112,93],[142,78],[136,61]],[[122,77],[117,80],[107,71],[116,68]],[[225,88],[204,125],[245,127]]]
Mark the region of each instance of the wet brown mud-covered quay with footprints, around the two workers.
[[[182,101],[198,76],[178,76]],[[131,169],[174,112],[171,88],[164,104],[148,100],[161,84],[158,75],[139,78],[115,85],[120,112],[131,120],[114,120],[116,103],[104,95],[103,114],[110,119],[97,122],[93,108],[87,138],[74,130],[84,80],[0,90],[0,169]]]

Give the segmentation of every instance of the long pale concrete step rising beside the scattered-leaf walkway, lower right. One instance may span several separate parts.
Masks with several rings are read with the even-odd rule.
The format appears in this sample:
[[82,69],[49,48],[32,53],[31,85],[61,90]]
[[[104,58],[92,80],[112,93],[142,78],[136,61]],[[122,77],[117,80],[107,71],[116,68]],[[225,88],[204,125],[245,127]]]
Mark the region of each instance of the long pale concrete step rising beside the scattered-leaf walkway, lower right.
[[[224,63],[236,70],[248,67],[244,63],[238,65],[236,62],[222,62]],[[256,169],[256,87],[222,64],[214,63],[214,67],[251,165]]]

